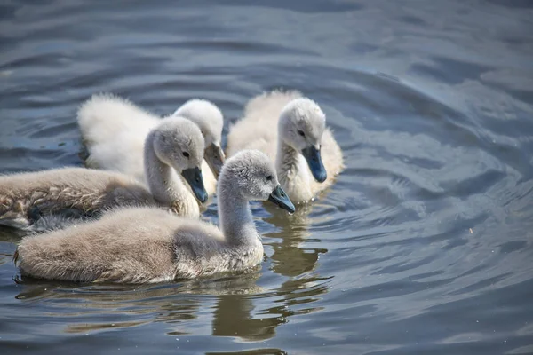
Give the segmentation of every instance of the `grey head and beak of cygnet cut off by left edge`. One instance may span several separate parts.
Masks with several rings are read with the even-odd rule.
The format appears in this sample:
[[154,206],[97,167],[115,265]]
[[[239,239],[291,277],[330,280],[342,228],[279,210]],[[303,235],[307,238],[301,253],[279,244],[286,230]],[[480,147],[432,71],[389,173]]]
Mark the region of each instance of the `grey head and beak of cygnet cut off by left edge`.
[[152,134],[155,154],[159,160],[185,178],[198,201],[207,201],[201,169],[204,144],[198,126],[176,116],[163,120]]

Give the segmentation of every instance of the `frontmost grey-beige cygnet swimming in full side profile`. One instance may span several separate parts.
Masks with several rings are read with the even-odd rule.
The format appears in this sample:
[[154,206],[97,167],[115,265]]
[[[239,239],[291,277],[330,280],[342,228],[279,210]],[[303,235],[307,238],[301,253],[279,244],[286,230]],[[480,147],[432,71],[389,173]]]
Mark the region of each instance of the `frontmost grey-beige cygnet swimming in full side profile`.
[[14,257],[22,276],[48,280],[162,282],[239,272],[260,264],[263,245],[249,201],[294,212],[274,164],[257,150],[235,154],[218,184],[220,229],[162,209],[110,211],[97,221],[28,236]]

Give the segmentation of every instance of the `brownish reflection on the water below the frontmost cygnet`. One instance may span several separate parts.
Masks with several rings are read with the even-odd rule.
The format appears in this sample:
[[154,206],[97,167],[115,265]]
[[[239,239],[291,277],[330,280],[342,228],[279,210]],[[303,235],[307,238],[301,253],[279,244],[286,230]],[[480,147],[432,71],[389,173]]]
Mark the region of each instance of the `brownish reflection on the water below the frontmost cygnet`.
[[163,322],[171,325],[167,335],[190,335],[190,323],[212,308],[212,335],[249,342],[274,337],[276,328],[292,316],[322,309],[312,304],[328,292],[329,278],[306,275],[268,291],[257,284],[260,275],[140,286],[23,279],[16,298],[29,304],[45,302],[42,316],[57,319],[71,334]]

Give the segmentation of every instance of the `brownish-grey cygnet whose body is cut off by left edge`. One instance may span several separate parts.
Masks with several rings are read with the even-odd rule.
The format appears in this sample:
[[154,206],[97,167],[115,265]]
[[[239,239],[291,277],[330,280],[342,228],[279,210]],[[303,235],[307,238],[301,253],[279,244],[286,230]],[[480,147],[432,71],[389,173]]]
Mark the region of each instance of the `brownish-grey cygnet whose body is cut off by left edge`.
[[68,219],[99,217],[107,209],[139,205],[199,217],[196,199],[206,201],[207,193],[200,170],[203,137],[198,127],[174,117],[151,130],[146,141],[149,191],[133,177],[115,171],[69,167],[4,175],[0,176],[0,225],[35,232],[39,225],[50,229]]

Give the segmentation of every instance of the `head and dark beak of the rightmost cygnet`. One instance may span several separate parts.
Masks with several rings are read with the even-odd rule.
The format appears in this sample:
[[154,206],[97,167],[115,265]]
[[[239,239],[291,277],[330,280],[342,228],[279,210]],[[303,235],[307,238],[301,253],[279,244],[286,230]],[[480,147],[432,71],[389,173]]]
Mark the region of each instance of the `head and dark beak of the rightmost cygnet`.
[[298,98],[282,110],[278,133],[283,142],[306,158],[313,177],[322,183],[328,177],[320,154],[326,115],[312,99]]

